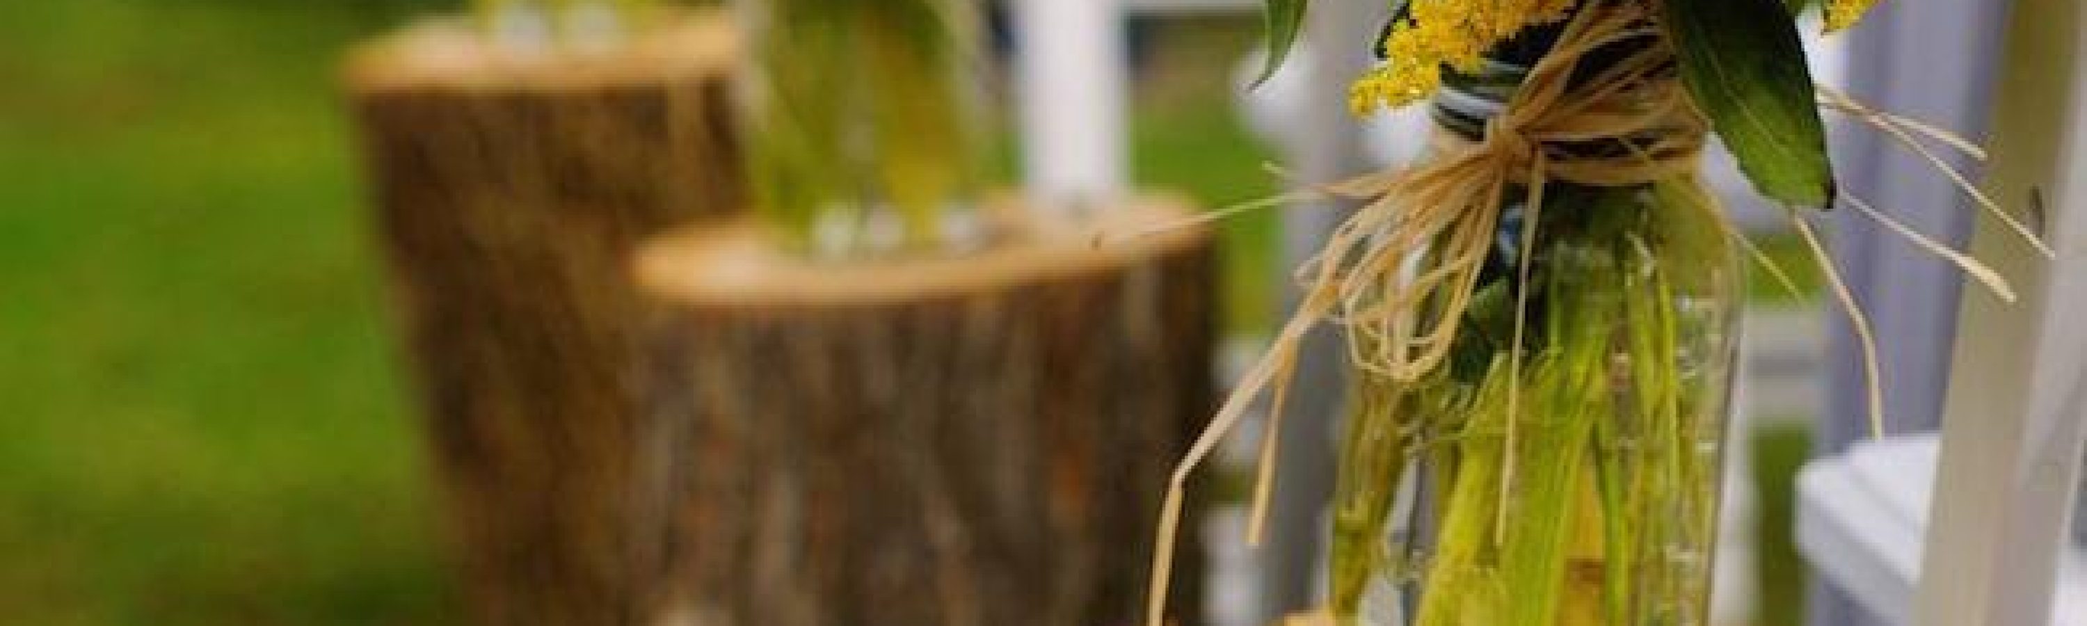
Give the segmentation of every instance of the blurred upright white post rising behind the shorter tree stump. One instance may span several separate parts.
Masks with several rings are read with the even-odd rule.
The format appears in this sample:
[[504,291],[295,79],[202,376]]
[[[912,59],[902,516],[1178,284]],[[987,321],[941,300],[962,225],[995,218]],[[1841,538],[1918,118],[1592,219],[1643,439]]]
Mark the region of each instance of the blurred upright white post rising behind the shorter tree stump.
[[1037,207],[1106,200],[1129,173],[1121,0],[1021,0],[1023,167]]

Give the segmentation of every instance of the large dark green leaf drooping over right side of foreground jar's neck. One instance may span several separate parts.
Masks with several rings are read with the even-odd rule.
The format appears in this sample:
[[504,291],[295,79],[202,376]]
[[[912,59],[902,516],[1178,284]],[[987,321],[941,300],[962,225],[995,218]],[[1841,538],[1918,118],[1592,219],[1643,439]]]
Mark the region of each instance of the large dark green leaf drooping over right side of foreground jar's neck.
[[1834,196],[1812,69],[1782,0],[1663,0],[1682,81],[1764,196],[1828,207]]

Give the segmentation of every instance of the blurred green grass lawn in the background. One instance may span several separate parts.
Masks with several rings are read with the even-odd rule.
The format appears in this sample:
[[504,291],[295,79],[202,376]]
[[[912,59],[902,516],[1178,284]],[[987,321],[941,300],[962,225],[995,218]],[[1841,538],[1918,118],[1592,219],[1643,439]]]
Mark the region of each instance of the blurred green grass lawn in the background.
[[[0,622],[459,622],[336,77],[353,42],[453,4],[0,2]],[[1142,186],[1277,190],[1236,106],[1258,29],[1135,19]],[[1227,223],[1242,346],[1279,300],[1275,223]],[[1786,323],[1764,384],[1797,386],[1738,438],[1759,624],[1795,624],[1803,584],[1789,482],[1822,330],[1799,282],[1755,292]]]

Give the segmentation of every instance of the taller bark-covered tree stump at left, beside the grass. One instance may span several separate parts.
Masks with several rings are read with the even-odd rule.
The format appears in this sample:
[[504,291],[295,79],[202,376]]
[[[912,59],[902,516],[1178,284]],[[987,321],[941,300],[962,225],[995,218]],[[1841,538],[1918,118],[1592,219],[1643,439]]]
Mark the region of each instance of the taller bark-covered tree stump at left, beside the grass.
[[480,624],[634,624],[634,244],[741,204],[733,35],[691,17],[614,52],[459,23],[346,71],[434,465]]

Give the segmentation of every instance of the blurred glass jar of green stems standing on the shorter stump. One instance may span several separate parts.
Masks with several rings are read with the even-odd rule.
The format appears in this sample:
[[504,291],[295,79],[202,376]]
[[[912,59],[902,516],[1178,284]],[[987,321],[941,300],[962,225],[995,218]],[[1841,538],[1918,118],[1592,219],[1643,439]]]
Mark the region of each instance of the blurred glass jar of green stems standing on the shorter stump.
[[739,0],[753,202],[799,252],[977,244],[979,2]]

